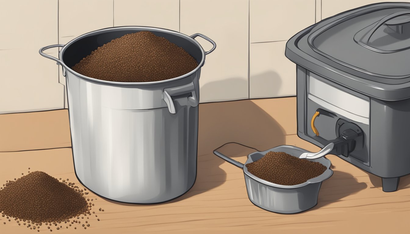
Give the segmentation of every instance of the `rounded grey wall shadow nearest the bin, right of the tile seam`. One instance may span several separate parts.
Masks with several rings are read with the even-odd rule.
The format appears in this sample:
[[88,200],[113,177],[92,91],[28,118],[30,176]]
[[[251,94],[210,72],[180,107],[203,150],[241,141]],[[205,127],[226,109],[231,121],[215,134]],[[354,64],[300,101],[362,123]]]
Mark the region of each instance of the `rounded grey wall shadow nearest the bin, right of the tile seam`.
[[[279,95],[282,87],[280,75],[274,71],[267,71],[257,75],[251,75],[249,82],[250,98],[266,98]],[[255,88],[253,87],[256,86]]]

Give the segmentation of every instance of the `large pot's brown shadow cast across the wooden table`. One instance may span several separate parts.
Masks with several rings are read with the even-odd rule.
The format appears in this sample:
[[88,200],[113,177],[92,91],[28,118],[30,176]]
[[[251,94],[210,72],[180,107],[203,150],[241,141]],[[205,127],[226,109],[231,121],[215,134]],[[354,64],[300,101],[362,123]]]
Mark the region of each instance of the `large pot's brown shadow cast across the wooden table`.
[[[223,184],[226,179],[226,172],[220,166],[225,161],[212,152],[228,142],[241,143],[263,151],[278,145],[284,145],[285,131],[276,120],[251,100],[201,104],[199,106],[196,182],[181,197],[162,204],[178,202]],[[235,143],[225,145],[219,151],[229,157],[242,157],[255,152],[253,149]],[[246,158],[237,160],[244,163]],[[233,165],[230,166],[235,167]],[[241,169],[237,168],[237,170],[240,171]],[[147,206],[123,204],[120,202],[113,203]],[[148,206],[155,205],[157,204]]]

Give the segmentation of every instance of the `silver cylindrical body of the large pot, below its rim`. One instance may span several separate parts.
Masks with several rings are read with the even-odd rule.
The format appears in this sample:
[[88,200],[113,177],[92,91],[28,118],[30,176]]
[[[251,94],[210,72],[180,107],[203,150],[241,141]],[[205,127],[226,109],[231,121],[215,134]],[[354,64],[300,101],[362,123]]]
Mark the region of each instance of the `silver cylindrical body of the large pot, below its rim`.
[[[199,73],[176,83],[198,85]],[[164,102],[163,87],[101,85],[70,72],[67,91],[75,173],[84,186],[116,201],[157,203],[194,185],[198,106],[176,100],[176,114],[165,103],[151,109]]]

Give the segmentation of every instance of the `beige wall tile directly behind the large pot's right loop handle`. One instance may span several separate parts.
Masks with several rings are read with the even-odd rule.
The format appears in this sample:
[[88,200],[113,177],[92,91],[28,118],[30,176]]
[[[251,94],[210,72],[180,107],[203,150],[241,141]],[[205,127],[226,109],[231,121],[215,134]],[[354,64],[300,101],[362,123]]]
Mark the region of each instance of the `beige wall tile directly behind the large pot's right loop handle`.
[[[200,76],[200,102],[248,98],[248,0],[181,0],[181,32],[216,42]],[[204,50],[211,45],[197,37]]]

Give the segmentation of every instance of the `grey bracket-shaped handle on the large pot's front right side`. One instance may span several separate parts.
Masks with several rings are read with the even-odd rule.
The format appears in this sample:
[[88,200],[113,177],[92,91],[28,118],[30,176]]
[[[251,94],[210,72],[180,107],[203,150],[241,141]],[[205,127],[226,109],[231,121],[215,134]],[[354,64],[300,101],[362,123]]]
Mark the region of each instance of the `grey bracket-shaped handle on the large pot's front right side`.
[[196,98],[194,83],[185,84],[178,87],[164,89],[162,99],[164,99],[168,110],[171,114],[176,114],[175,101],[178,101],[180,105],[186,105],[190,107],[198,106],[198,99]]

